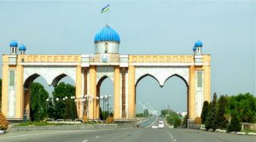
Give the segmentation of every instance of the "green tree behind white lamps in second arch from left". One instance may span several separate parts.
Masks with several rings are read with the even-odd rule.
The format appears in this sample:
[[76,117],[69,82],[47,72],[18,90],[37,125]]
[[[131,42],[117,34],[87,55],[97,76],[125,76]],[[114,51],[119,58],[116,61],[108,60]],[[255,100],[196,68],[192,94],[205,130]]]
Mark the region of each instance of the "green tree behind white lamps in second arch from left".
[[[55,119],[75,119],[78,117],[76,105],[74,100],[71,99],[71,96],[75,96],[75,88],[73,85],[60,82],[55,86],[53,92],[56,110],[53,116]],[[78,103],[79,101],[80,100],[78,100]]]

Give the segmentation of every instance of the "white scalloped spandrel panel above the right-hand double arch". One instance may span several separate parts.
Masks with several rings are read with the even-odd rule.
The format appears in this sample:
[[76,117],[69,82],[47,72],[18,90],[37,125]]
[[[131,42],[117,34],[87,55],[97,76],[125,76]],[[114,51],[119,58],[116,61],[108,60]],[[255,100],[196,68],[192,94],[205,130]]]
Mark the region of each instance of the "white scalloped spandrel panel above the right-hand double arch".
[[135,69],[135,83],[144,77],[145,75],[150,75],[154,77],[163,87],[166,80],[169,77],[177,76],[181,77],[186,84],[189,84],[189,67],[152,67],[143,66],[136,67]]

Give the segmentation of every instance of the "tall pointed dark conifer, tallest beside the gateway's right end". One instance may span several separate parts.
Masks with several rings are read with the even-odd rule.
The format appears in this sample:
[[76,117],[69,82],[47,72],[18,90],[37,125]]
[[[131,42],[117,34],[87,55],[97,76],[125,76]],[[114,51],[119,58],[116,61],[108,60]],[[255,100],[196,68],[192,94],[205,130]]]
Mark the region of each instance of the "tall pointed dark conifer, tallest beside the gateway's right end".
[[217,122],[217,94],[213,94],[212,102],[209,105],[209,112],[207,114],[207,121],[205,122],[206,129],[212,128],[212,131],[215,131],[216,128],[218,128],[218,122]]

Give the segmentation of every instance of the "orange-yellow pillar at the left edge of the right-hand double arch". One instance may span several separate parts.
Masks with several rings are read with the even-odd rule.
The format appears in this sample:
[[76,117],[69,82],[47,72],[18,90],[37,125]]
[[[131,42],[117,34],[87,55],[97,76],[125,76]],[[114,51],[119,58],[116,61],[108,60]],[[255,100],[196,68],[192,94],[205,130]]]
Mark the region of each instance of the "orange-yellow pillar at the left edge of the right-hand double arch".
[[136,102],[135,102],[135,66],[129,65],[128,68],[128,84],[129,84],[129,92],[128,92],[128,118],[134,119],[136,112]]

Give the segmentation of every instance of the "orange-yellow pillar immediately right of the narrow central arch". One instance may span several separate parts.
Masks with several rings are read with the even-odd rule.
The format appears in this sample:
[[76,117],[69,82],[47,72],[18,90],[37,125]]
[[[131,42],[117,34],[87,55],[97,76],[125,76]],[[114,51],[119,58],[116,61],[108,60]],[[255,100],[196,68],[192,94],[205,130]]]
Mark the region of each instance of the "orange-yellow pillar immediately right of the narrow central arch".
[[119,66],[114,67],[113,78],[113,118],[120,119],[120,69]]

